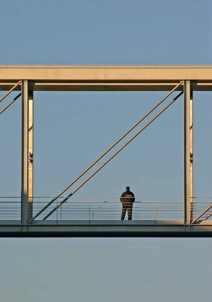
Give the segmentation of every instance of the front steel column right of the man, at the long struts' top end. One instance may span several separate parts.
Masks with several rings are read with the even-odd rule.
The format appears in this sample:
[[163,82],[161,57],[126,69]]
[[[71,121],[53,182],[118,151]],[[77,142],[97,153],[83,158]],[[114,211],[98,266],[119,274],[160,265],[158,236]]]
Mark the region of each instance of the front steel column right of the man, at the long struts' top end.
[[192,146],[190,135],[190,123],[192,122],[190,81],[184,81],[184,223],[191,222],[190,199],[192,194],[191,187],[191,155],[190,147]]

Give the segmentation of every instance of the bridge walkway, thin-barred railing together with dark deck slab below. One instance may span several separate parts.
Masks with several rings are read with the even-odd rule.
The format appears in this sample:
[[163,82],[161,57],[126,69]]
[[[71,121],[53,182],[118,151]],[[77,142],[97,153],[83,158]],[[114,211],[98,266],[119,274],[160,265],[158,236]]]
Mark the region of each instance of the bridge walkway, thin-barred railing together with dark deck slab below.
[[[33,213],[50,199],[34,197]],[[194,217],[212,201],[211,197],[193,199]],[[30,224],[21,225],[21,198],[1,197],[0,237],[212,237],[212,218],[204,220],[208,213],[195,224],[184,224],[183,197],[136,200],[132,220],[120,220],[119,197],[70,197],[46,220],[60,198]]]

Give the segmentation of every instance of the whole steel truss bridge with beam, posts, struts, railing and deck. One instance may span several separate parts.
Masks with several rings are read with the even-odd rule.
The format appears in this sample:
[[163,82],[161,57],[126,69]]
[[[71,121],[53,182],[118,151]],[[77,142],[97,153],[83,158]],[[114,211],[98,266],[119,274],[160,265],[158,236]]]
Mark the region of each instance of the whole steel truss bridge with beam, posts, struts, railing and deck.
[[[212,65],[0,65],[0,90],[21,97],[21,196],[0,197],[0,237],[212,237],[212,198],[193,196],[193,91],[212,91]],[[96,161],[55,197],[33,196],[34,91],[169,91]],[[64,192],[173,92],[145,126],[69,195]],[[120,220],[119,197],[75,193],[130,141],[183,95],[184,196],[136,197],[133,219]],[[74,195],[74,196],[73,196]]]

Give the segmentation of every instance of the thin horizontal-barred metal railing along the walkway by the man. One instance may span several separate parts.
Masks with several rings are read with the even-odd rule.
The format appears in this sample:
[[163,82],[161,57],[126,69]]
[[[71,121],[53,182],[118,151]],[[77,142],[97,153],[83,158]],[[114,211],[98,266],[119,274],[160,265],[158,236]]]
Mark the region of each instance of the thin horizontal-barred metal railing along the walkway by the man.
[[[37,220],[43,219],[59,202],[57,198]],[[33,197],[33,214],[39,212],[52,197]],[[193,197],[193,216],[199,215],[212,197]],[[49,220],[120,220],[122,204],[120,197],[69,197]],[[206,212],[201,220],[210,211]],[[127,219],[127,213],[125,219]],[[135,197],[132,209],[133,220],[182,220],[184,218],[183,197]],[[0,197],[0,220],[21,219],[21,197]],[[207,218],[212,219],[212,215]]]

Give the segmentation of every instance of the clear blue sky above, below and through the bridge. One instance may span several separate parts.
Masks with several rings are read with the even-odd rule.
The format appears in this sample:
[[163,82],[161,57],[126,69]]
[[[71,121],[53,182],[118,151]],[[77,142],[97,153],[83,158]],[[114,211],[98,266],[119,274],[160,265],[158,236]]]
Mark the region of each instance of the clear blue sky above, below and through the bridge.
[[[210,0],[2,0],[0,14],[0,64],[212,64]],[[34,195],[59,193],[165,94],[35,92]],[[193,99],[194,196],[212,196],[211,92]],[[126,185],[136,196],[182,196],[182,105],[181,97],[77,196],[119,196]],[[17,100],[0,119],[1,196],[20,196],[20,109]],[[208,239],[1,239],[0,245],[4,302],[210,296]]]

